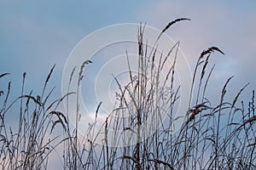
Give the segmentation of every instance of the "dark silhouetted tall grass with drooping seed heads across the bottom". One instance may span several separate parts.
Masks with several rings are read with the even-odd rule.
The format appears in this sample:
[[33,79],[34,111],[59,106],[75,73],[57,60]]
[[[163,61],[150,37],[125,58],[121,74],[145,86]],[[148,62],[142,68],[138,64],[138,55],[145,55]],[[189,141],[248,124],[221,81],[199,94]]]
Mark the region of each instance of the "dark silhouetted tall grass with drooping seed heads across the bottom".
[[[0,167],[2,169],[47,169],[49,158],[57,146],[62,148],[63,169],[254,169],[255,162],[255,104],[254,91],[251,101],[245,104],[239,99],[247,84],[241,87],[231,101],[225,99],[230,81],[227,79],[219,94],[218,104],[212,104],[207,96],[214,66],[209,68],[212,54],[224,54],[217,47],[203,50],[195,65],[189,108],[184,114],[181,127],[174,131],[173,118],[179,105],[179,89],[183,84],[176,82],[176,62],[179,42],[170,48],[167,55],[157,52],[161,35],[178,21],[170,22],[154,47],[149,50],[144,42],[144,27],[138,30],[137,73],[129,70],[130,81],[121,84],[116,92],[117,105],[98,130],[97,116],[101,104],[96,106],[95,122],[82,136],[78,133],[79,87],[84,67],[91,61],[84,61],[71,72],[68,87],[77,84],[77,91],[61,99],[52,99],[52,88],[46,94],[46,87],[54,70],[50,70],[41,95],[24,94],[26,73],[23,74],[21,94],[9,101],[11,83],[7,90],[0,91]],[[173,57],[172,57],[173,56]],[[172,65],[167,60],[172,59]],[[129,55],[127,65],[130,68]],[[160,77],[166,71],[165,77]],[[8,73],[0,75],[0,81]],[[79,77],[73,82],[73,77]],[[85,80],[86,81],[86,80]],[[1,82],[3,83],[3,82]],[[232,93],[233,94],[233,93]],[[74,127],[70,124],[69,96],[76,95],[76,118]],[[194,97],[192,97],[194,96]],[[67,101],[67,111],[58,110],[62,101]],[[240,102],[241,101],[241,102]],[[104,102],[104,101],[103,101]],[[20,110],[10,109],[19,103]],[[19,114],[18,127],[8,127],[6,116]],[[61,135],[49,137],[61,127]],[[102,144],[99,144],[101,141]],[[122,146],[122,147],[120,147]]]

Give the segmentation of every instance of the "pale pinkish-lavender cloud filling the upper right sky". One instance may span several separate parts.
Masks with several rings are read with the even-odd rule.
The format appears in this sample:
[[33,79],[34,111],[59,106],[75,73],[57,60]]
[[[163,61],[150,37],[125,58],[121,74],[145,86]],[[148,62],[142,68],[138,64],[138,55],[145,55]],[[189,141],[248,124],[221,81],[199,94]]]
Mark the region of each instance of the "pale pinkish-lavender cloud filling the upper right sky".
[[148,4],[140,14],[143,14],[149,26],[160,29],[176,18],[190,18],[191,21],[177,23],[166,33],[175,41],[181,42],[180,47],[191,68],[195,67],[195,62],[204,48],[217,46],[223,50],[224,57],[221,54],[212,54],[210,64],[216,63],[212,84],[218,84],[213,85],[213,88],[220,89],[228,77],[235,75],[234,79],[238,79],[240,83],[230,84],[234,94],[247,82],[251,82],[251,88],[256,85],[252,76],[256,71],[255,7],[255,3],[241,4],[236,1],[158,1]]

